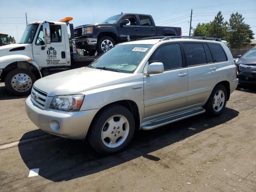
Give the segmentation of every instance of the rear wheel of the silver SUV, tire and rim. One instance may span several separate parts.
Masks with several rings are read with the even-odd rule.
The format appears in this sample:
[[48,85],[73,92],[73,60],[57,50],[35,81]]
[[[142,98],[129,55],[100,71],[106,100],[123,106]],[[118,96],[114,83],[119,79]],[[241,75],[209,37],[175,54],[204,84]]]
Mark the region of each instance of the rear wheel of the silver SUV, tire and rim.
[[210,116],[222,114],[227,102],[227,91],[223,85],[217,85],[212,90],[210,98],[204,108]]

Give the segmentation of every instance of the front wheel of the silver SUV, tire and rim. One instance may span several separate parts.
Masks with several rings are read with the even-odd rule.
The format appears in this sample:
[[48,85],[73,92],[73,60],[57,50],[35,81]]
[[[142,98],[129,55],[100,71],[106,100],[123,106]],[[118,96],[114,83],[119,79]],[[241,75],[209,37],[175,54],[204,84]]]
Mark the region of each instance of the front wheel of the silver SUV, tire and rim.
[[114,154],[123,150],[134,135],[132,113],[120,105],[104,108],[94,118],[88,133],[91,146],[100,154]]

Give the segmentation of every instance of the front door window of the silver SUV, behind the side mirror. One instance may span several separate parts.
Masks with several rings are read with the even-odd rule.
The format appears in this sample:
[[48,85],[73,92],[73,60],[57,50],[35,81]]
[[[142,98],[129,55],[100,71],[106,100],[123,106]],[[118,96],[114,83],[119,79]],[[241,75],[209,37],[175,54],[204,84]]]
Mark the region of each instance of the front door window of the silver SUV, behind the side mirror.
[[179,43],[164,44],[158,47],[148,60],[148,64],[162,62],[164,70],[182,68],[182,52]]

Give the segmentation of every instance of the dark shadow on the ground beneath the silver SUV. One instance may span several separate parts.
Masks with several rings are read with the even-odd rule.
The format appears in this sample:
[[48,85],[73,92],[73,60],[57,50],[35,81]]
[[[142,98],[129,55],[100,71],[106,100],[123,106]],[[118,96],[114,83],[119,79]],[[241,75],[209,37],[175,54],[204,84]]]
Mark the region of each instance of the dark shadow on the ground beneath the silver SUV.
[[[40,176],[61,182],[107,170],[140,156],[158,161],[160,158],[151,155],[151,152],[228,122],[238,114],[238,111],[226,108],[219,117],[210,118],[201,114],[154,130],[140,131],[128,148],[112,156],[101,156],[84,140],[68,140],[55,136],[30,144],[20,142],[18,149],[29,169],[40,168]],[[20,140],[37,131],[24,134]]]

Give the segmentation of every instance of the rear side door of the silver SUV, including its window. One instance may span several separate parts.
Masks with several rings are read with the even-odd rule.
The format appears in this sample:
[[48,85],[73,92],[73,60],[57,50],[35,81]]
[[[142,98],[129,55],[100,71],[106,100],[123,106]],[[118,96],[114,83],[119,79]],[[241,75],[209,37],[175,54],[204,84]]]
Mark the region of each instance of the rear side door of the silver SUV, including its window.
[[219,72],[208,45],[201,42],[182,43],[188,66],[188,100],[186,106],[202,106],[216,84]]

